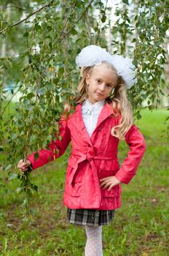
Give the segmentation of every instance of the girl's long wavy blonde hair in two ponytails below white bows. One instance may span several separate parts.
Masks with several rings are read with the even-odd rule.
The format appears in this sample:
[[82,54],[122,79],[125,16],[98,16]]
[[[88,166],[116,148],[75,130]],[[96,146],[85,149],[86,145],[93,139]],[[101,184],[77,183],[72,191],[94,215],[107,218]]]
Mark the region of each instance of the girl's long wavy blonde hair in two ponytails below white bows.
[[[104,65],[107,68],[112,69],[117,75],[117,83],[114,86],[111,94],[108,98],[106,98],[106,102],[112,104],[112,109],[114,112],[114,116],[121,115],[119,124],[111,129],[111,135],[118,138],[119,140],[125,140],[125,135],[130,127],[133,125],[133,108],[127,99],[127,90],[125,86],[125,81],[121,76],[117,74],[117,69],[115,69],[109,62],[103,61],[101,65]],[[95,69],[93,67],[82,67],[80,71],[80,80],[79,85],[77,87],[79,94],[74,96],[75,105],[84,102],[85,99],[88,98],[88,86],[86,82],[87,74],[91,75]],[[72,106],[66,102],[64,110],[63,110],[63,118],[68,118]]]

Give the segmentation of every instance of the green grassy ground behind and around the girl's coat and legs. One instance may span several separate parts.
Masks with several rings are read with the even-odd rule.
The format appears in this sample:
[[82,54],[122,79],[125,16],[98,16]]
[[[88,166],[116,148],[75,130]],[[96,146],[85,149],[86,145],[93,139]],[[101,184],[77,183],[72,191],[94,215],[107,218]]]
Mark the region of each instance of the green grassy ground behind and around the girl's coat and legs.
[[[103,227],[104,256],[167,256],[169,189],[168,143],[161,138],[166,110],[142,110],[135,124],[146,139],[146,154],[129,185],[122,186],[122,208],[111,225]],[[119,146],[119,162],[127,155],[125,142]],[[39,168],[32,180],[39,194],[25,215],[23,196],[15,192],[16,180],[1,187],[0,255],[83,255],[84,228],[66,222],[63,187],[66,157]]]

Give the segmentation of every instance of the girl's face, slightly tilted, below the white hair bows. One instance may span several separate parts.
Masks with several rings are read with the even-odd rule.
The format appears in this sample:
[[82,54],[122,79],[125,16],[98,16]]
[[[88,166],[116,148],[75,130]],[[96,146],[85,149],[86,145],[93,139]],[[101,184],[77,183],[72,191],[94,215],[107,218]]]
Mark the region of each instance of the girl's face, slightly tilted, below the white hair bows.
[[117,74],[113,69],[104,65],[95,66],[91,74],[87,74],[88,99],[91,103],[109,97],[117,83]]

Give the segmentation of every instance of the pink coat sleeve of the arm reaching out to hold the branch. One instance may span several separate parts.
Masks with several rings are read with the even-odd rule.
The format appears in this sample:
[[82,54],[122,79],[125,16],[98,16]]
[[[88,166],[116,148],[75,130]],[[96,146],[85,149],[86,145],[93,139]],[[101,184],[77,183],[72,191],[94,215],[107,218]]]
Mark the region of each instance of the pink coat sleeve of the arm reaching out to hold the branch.
[[[42,148],[41,150],[35,151],[27,157],[27,159],[31,162],[31,167],[33,170],[60,157],[66,151],[66,148],[71,141],[71,132],[68,129],[66,120],[59,121],[59,135],[61,139],[59,139],[59,136],[56,135],[57,139],[52,141],[47,146],[48,149]],[[36,153],[38,153],[38,157],[35,157]]]

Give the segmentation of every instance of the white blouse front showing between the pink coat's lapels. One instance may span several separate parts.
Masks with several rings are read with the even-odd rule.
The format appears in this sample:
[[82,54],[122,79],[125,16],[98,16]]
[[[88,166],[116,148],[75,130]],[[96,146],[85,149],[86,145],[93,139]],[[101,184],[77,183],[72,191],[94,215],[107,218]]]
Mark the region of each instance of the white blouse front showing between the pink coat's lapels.
[[98,116],[100,115],[104,104],[105,99],[95,102],[94,104],[92,104],[89,99],[86,99],[82,104],[82,118],[90,137],[96,127]]

